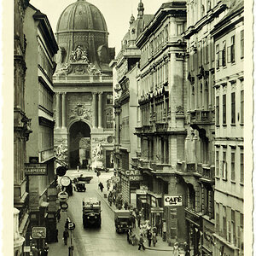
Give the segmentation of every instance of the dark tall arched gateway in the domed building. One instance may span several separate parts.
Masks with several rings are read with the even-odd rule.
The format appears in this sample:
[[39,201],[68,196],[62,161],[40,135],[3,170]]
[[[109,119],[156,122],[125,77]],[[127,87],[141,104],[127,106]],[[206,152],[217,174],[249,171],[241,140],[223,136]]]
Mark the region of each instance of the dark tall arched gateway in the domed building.
[[90,126],[82,121],[69,129],[68,157],[70,168],[87,167],[90,161]]

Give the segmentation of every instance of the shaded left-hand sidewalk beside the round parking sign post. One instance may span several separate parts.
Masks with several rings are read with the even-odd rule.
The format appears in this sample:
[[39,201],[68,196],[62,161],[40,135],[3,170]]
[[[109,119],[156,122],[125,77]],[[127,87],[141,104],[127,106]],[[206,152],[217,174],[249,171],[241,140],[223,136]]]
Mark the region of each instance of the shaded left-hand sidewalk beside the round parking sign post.
[[[49,243],[49,253],[48,253],[49,256],[56,256],[56,255],[68,256],[69,255],[68,247],[70,247],[71,231],[69,231],[67,245],[64,245],[64,241],[62,240],[66,219],[67,219],[67,212],[61,212],[60,222],[57,223],[57,229],[59,230],[58,242]],[[73,236],[72,236],[72,241],[73,241],[73,256],[79,256],[76,241]]]

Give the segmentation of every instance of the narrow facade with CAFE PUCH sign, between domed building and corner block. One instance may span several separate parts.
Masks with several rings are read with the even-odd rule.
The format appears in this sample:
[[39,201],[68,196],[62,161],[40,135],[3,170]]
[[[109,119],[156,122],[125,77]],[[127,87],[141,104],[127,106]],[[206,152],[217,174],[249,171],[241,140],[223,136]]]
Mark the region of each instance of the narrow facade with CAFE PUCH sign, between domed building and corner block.
[[137,127],[137,75],[141,51],[135,41],[143,27],[148,25],[154,15],[144,15],[142,1],[138,3],[137,19],[131,15],[129,31],[122,40],[122,47],[112,67],[116,70],[113,80],[114,117],[115,117],[115,168],[120,177],[123,200],[132,207],[137,205],[137,189],[140,189],[142,175],[131,166],[140,147],[134,136]]

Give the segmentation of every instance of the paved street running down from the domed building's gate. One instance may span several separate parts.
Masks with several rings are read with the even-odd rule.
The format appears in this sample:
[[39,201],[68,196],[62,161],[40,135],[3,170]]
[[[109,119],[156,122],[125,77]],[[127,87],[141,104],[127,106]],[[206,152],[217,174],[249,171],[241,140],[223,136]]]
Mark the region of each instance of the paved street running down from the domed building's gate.
[[[172,252],[161,252],[157,251],[157,247],[154,250],[146,249],[145,252],[140,252],[137,250],[137,246],[132,246],[126,241],[126,234],[117,234],[114,227],[113,210],[108,207],[107,203],[103,200],[104,192],[107,191],[106,181],[108,178],[113,176],[113,172],[105,173],[103,172],[100,177],[96,177],[95,172],[85,172],[85,171],[67,171],[67,176],[71,179],[78,177],[80,174],[84,176],[92,176],[89,184],[86,184],[86,192],[74,191],[73,195],[69,197],[68,211],[61,212],[61,218],[69,217],[73,223],[75,223],[76,228],[73,231],[73,246],[75,247],[73,256],[94,256],[94,255],[140,255],[141,253],[145,255],[172,255]],[[98,182],[101,181],[105,188],[103,193],[98,189]],[[97,228],[87,228],[83,227],[82,220],[82,201],[83,198],[97,198],[102,202],[102,227]],[[63,221],[63,219],[62,219]],[[62,230],[59,227],[59,230]],[[49,256],[55,256],[55,250],[61,250],[62,247],[65,248],[68,255],[68,247],[65,247],[61,240],[62,232],[59,233],[59,242],[52,243],[49,245]],[[68,244],[70,244],[70,237],[68,238]],[[146,240],[146,239],[145,239]],[[146,245],[146,242],[145,242]],[[54,250],[51,250],[55,247]],[[61,249],[58,249],[61,248]],[[79,254],[76,254],[79,253]]]

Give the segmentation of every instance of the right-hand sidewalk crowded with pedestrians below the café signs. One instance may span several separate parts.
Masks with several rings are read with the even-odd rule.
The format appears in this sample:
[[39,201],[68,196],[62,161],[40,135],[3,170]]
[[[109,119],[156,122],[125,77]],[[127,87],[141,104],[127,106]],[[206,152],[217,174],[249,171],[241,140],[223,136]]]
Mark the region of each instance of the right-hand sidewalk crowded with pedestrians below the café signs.
[[[106,204],[108,205],[108,207],[114,211],[117,208],[114,206],[114,204],[112,204],[112,206],[110,207],[109,203],[108,203],[108,191],[107,191],[107,183],[103,183],[104,185],[104,189],[103,192],[100,191],[100,189],[96,189],[97,194],[100,195],[102,197],[102,200],[106,202]],[[110,189],[109,189],[110,190]],[[104,194],[107,194],[107,198],[105,198]],[[137,237],[137,241],[140,237],[140,229],[137,226],[137,221],[136,221],[136,228],[132,229],[133,233],[136,235]],[[173,247],[168,246],[166,241],[163,241],[163,238],[161,236],[157,236],[157,243],[155,245],[155,247],[153,247],[153,243],[151,242],[151,247],[148,247],[148,239],[147,237],[144,237],[144,246],[146,247],[146,249],[148,250],[153,250],[153,251],[169,251],[172,252],[173,251]],[[180,253],[183,253],[182,250],[180,250]],[[181,254],[182,255],[182,254]]]

